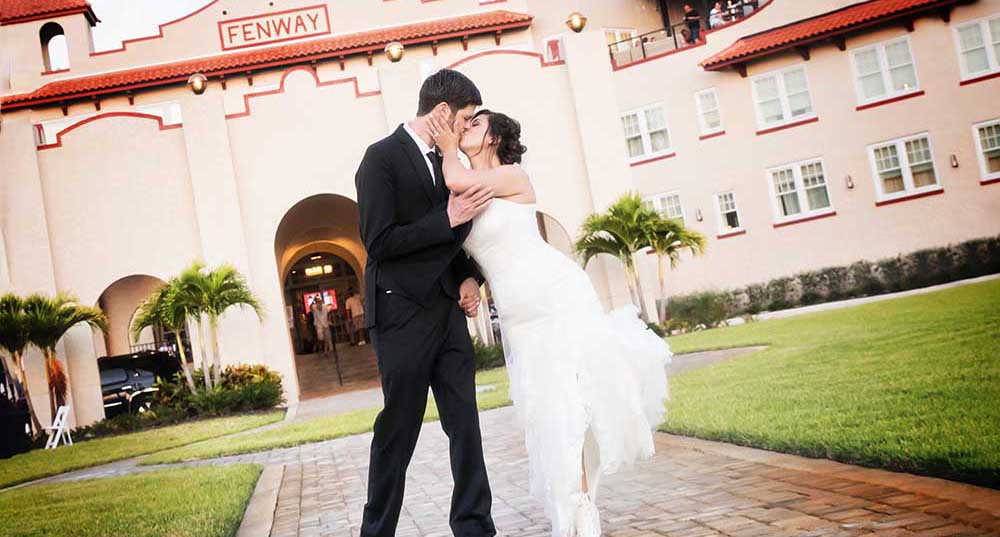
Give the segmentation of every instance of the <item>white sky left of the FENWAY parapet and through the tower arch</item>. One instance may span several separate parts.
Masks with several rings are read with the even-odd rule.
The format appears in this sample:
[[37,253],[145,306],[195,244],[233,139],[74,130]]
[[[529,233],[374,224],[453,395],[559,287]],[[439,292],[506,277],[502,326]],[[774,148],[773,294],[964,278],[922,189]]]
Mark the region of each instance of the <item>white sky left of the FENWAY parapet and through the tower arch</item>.
[[[90,0],[101,22],[93,28],[94,51],[119,48],[123,39],[156,35],[157,26],[183,17],[211,0]],[[53,65],[66,65],[59,48],[52,49]]]

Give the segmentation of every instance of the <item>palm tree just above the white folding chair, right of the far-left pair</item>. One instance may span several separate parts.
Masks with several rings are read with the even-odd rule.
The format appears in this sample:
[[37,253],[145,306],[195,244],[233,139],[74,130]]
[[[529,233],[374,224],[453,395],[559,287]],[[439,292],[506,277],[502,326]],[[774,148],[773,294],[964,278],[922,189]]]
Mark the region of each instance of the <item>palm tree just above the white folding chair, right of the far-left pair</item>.
[[45,378],[49,386],[49,409],[66,404],[69,381],[62,363],[56,358],[56,345],[70,328],[86,323],[92,329],[108,330],[108,318],[99,308],[77,304],[75,296],[59,292],[49,297],[34,294],[24,300],[28,340],[45,356]]

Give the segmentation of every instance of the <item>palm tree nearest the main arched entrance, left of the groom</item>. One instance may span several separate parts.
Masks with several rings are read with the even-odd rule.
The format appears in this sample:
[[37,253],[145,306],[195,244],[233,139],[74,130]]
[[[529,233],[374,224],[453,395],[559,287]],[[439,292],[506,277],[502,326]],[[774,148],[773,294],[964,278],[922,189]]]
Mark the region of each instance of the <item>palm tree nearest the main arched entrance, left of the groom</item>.
[[[222,359],[219,355],[219,319],[226,310],[233,306],[248,307],[261,319],[263,310],[260,302],[254,296],[246,279],[236,267],[224,264],[210,272],[204,271],[205,265],[195,261],[178,278],[181,286],[180,294],[183,300],[193,305],[192,310],[198,313],[198,336],[204,341],[202,318],[207,320],[210,337],[212,338],[212,364],[214,379],[212,385],[218,385],[222,378]],[[202,343],[202,356],[204,343]],[[203,360],[203,363],[207,361]],[[209,370],[205,367],[205,386],[211,389]]]

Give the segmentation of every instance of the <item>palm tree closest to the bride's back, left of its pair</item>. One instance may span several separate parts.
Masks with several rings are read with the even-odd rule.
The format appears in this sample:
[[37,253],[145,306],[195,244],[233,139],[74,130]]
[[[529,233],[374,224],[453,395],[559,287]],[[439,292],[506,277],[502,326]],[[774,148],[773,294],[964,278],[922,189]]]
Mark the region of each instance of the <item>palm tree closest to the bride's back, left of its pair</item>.
[[625,265],[625,282],[643,320],[647,320],[649,315],[642,300],[642,283],[636,270],[635,254],[652,246],[648,230],[661,220],[663,217],[646,207],[638,194],[628,193],[608,207],[607,212],[588,216],[583,222],[582,235],[574,246],[577,254],[583,257],[584,266],[599,254],[614,256]]

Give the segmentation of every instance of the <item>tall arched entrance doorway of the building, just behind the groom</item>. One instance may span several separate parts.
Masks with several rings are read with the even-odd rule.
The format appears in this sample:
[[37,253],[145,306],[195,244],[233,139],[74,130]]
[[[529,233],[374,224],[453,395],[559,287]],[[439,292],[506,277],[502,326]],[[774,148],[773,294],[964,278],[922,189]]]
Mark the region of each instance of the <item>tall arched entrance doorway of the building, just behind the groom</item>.
[[[344,196],[317,194],[285,213],[275,233],[285,319],[295,352],[301,399],[378,386],[378,366],[371,345],[351,344],[344,303],[350,291],[364,290],[367,260],[358,232],[358,206]],[[309,317],[314,297],[330,310],[336,344],[317,352]]]

